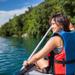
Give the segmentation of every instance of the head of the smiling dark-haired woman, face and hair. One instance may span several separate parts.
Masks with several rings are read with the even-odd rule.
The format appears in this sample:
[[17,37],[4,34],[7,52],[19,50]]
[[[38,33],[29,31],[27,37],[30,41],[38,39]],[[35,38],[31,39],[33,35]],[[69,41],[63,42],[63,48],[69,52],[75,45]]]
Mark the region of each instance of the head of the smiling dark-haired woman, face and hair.
[[58,32],[61,29],[64,31],[69,31],[69,19],[63,14],[57,13],[53,15],[51,20],[49,20],[49,23],[51,24],[53,32]]

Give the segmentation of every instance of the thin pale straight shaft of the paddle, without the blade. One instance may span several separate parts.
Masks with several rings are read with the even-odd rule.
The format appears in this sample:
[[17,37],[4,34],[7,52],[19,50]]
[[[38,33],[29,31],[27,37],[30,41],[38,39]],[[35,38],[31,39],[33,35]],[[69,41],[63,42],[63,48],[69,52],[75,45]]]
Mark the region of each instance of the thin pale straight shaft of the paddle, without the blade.
[[[31,59],[31,57],[35,54],[35,52],[38,50],[39,46],[41,45],[41,43],[44,41],[44,39],[46,38],[47,34],[49,33],[49,31],[51,30],[51,27],[47,30],[47,32],[45,33],[45,35],[43,36],[43,38],[41,39],[41,41],[38,43],[38,45],[35,47],[35,49],[33,50],[32,54],[30,55],[30,57],[28,58]],[[25,66],[23,66],[20,70],[23,70],[25,68]]]

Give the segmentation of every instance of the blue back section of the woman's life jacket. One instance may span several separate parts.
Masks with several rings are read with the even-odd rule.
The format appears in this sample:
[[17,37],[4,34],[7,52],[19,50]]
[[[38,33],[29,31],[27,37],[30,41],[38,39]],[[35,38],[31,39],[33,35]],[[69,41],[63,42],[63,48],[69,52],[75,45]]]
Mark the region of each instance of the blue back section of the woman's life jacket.
[[63,34],[66,53],[66,75],[75,74],[75,31]]

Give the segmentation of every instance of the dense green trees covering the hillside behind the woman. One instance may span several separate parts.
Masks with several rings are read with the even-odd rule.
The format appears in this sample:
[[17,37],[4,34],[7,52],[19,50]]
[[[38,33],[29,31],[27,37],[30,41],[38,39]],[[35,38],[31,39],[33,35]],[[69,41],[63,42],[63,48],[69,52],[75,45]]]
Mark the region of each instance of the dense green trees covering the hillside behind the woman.
[[30,36],[44,35],[49,28],[48,18],[54,12],[63,12],[75,22],[75,0],[45,0],[36,7],[29,7],[29,10],[20,16],[14,16],[8,23],[0,28],[1,36]]

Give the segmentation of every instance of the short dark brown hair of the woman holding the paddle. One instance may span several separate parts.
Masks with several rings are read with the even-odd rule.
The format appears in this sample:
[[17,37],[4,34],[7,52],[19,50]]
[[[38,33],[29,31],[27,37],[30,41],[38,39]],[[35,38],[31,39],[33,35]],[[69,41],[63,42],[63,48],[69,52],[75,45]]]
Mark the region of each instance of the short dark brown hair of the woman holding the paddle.
[[70,31],[69,30],[70,21],[67,16],[64,16],[62,13],[56,13],[51,17],[51,19],[54,19],[54,21],[56,23],[59,23],[60,25],[62,24],[64,31]]

